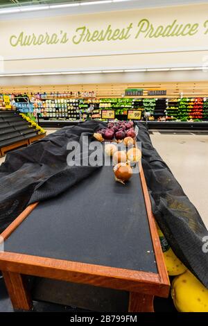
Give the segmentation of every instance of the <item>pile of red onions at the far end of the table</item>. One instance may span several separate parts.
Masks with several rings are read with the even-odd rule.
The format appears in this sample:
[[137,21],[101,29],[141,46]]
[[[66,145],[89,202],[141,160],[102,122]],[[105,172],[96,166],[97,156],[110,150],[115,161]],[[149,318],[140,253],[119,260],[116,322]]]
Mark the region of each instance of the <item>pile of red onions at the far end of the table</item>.
[[123,140],[125,137],[135,138],[135,130],[133,128],[134,123],[132,121],[117,121],[116,123],[110,122],[107,124],[107,128],[98,130],[105,140]]

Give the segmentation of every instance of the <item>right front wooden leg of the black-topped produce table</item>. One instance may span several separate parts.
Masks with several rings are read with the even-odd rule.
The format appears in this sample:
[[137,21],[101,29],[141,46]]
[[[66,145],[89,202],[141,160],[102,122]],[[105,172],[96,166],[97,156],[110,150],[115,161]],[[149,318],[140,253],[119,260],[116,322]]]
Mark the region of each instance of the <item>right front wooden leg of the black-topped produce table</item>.
[[153,295],[130,292],[129,295],[129,312],[154,312]]

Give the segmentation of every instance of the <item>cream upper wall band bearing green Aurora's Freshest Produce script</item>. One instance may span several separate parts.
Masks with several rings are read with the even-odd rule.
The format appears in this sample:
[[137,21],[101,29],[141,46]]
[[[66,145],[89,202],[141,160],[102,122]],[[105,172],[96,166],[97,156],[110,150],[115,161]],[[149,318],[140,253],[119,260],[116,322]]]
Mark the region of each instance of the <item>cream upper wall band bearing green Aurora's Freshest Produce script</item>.
[[207,12],[208,3],[201,3],[18,19],[11,24],[2,19],[3,73],[89,67],[137,70],[187,62],[208,66]]

